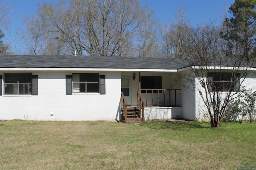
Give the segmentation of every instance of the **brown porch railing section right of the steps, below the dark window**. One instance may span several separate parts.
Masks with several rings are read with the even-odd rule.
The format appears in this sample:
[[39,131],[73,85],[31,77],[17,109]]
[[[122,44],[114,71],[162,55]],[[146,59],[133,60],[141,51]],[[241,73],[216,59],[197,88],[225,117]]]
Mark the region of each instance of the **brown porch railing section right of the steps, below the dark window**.
[[181,89],[141,89],[146,106],[181,106]]

